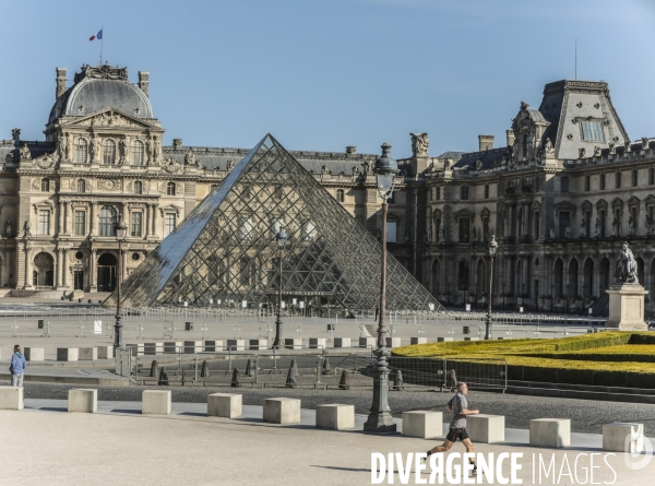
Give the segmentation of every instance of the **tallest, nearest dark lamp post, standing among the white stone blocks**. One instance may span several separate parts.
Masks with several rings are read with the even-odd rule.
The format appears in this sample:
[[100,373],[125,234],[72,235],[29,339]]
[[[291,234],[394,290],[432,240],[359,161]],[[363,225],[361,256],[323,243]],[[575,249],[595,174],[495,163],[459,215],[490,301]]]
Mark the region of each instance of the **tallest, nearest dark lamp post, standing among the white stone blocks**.
[[382,156],[376,161],[376,180],[378,193],[382,199],[382,262],[380,270],[380,316],[378,323],[378,347],[376,348],[376,369],[373,372],[373,404],[364,430],[370,432],[395,432],[396,426],[389,407],[389,368],[386,357],[390,355],[385,347],[386,328],[386,213],[389,200],[393,195],[394,177],[398,173],[398,164],[389,155],[391,145],[382,144]]

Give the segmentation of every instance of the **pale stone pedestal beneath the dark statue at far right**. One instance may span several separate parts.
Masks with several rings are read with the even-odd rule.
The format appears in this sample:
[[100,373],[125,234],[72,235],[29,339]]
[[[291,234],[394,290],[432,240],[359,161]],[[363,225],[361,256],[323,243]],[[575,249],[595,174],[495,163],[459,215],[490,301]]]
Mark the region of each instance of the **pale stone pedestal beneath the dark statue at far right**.
[[641,285],[612,285],[609,291],[609,319],[607,329],[619,331],[647,331],[644,321],[644,296],[648,293]]

